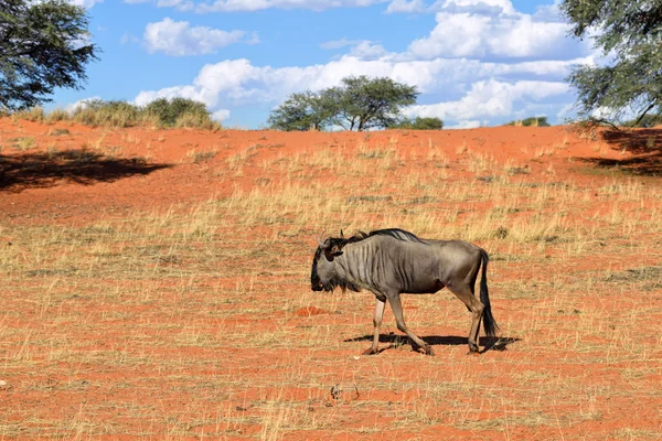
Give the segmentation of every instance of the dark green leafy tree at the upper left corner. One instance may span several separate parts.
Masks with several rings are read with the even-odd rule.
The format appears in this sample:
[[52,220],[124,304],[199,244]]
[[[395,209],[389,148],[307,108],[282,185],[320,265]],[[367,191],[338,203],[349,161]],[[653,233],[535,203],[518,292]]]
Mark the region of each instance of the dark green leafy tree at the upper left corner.
[[85,9],[66,0],[0,0],[0,110],[51,101],[55,87],[79,89],[97,60]]

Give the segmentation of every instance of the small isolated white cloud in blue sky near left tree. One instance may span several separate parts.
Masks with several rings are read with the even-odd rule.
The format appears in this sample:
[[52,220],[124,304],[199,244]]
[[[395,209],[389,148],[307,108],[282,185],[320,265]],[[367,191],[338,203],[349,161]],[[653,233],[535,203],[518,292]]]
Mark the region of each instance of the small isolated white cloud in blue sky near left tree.
[[218,47],[239,42],[245,34],[244,31],[191,26],[188,21],[166,18],[157,23],[148,23],[142,40],[150,53],[185,56],[214,53]]

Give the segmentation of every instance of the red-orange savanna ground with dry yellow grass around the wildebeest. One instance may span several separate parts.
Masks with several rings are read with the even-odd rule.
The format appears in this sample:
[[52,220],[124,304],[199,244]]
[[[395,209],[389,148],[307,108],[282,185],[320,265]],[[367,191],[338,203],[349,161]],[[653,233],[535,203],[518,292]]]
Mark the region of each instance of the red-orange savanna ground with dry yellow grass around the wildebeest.
[[[0,119],[0,439],[662,437],[662,131],[280,133]],[[491,255],[449,291],[310,291],[322,230]]]

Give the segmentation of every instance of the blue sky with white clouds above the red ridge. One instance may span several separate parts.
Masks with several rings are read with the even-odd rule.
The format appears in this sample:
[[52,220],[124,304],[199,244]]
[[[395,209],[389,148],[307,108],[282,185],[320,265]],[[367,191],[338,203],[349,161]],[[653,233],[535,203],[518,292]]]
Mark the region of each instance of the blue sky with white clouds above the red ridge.
[[568,36],[558,0],[72,1],[103,52],[85,88],[47,108],[182,96],[257,129],[292,93],[367,75],[416,85],[407,114],[446,127],[559,123],[573,116],[569,68],[598,56]]

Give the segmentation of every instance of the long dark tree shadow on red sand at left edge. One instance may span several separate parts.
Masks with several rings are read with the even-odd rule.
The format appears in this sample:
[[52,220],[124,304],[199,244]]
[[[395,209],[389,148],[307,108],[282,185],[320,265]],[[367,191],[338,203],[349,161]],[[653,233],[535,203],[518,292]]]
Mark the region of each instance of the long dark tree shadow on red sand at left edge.
[[143,158],[115,158],[85,149],[0,154],[0,191],[45,189],[60,181],[92,185],[171,166],[148,163]]

